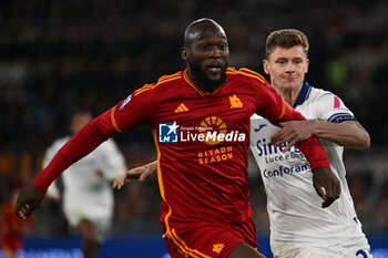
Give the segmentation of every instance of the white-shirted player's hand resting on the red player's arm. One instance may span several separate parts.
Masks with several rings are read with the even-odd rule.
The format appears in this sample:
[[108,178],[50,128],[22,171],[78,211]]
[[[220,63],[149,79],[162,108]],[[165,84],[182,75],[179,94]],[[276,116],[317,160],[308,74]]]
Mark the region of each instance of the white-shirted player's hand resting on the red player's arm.
[[279,123],[282,127],[270,137],[270,144],[275,147],[290,141],[283,149],[287,152],[295,144],[303,142],[313,136],[315,121],[287,121]]

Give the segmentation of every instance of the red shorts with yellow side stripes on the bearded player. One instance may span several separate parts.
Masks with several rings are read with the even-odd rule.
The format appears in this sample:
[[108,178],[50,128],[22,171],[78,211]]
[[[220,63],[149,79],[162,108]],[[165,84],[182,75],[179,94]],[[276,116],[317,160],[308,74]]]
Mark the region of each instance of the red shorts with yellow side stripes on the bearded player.
[[201,223],[174,227],[164,241],[171,258],[226,258],[242,241],[258,250],[251,217],[241,224]]

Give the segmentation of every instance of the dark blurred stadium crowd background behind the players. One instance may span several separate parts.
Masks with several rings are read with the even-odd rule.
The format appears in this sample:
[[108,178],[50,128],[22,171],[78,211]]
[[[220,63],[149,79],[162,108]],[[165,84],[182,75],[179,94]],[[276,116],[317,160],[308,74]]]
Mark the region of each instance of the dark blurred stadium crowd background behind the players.
[[[375,257],[388,257],[382,249],[388,246],[385,0],[1,1],[0,200],[41,171],[44,149],[68,133],[72,112],[84,109],[99,115],[144,83],[182,70],[183,31],[202,17],[226,30],[231,65],[262,74],[268,32],[296,28],[307,34],[307,81],[338,94],[371,136],[370,149],[347,149],[345,162]],[[129,167],[155,158],[147,127],[115,141]],[[249,174],[254,219],[265,249],[265,193],[254,164]],[[132,182],[115,197],[114,226],[101,257],[162,257],[156,182]],[[25,252],[20,257],[80,257],[79,240],[70,237],[58,204],[44,200],[23,235]]]

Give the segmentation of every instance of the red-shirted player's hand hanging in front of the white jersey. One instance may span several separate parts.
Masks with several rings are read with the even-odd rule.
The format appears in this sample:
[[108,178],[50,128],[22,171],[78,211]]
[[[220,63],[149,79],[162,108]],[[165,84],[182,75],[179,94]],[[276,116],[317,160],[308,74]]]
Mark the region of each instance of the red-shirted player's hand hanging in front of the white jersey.
[[313,184],[317,194],[324,199],[321,207],[330,206],[340,194],[340,183],[336,175],[327,167],[313,171]]

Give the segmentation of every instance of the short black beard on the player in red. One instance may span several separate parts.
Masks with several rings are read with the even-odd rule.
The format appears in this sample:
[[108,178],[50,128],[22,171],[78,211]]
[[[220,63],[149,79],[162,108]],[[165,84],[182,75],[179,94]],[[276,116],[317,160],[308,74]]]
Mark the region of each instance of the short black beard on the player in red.
[[226,66],[222,68],[221,78],[218,80],[210,80],[198,63],[192,62],[188,65],[191,73],[195,76],[195,84],[206,92],[218,89],[226,81]]

